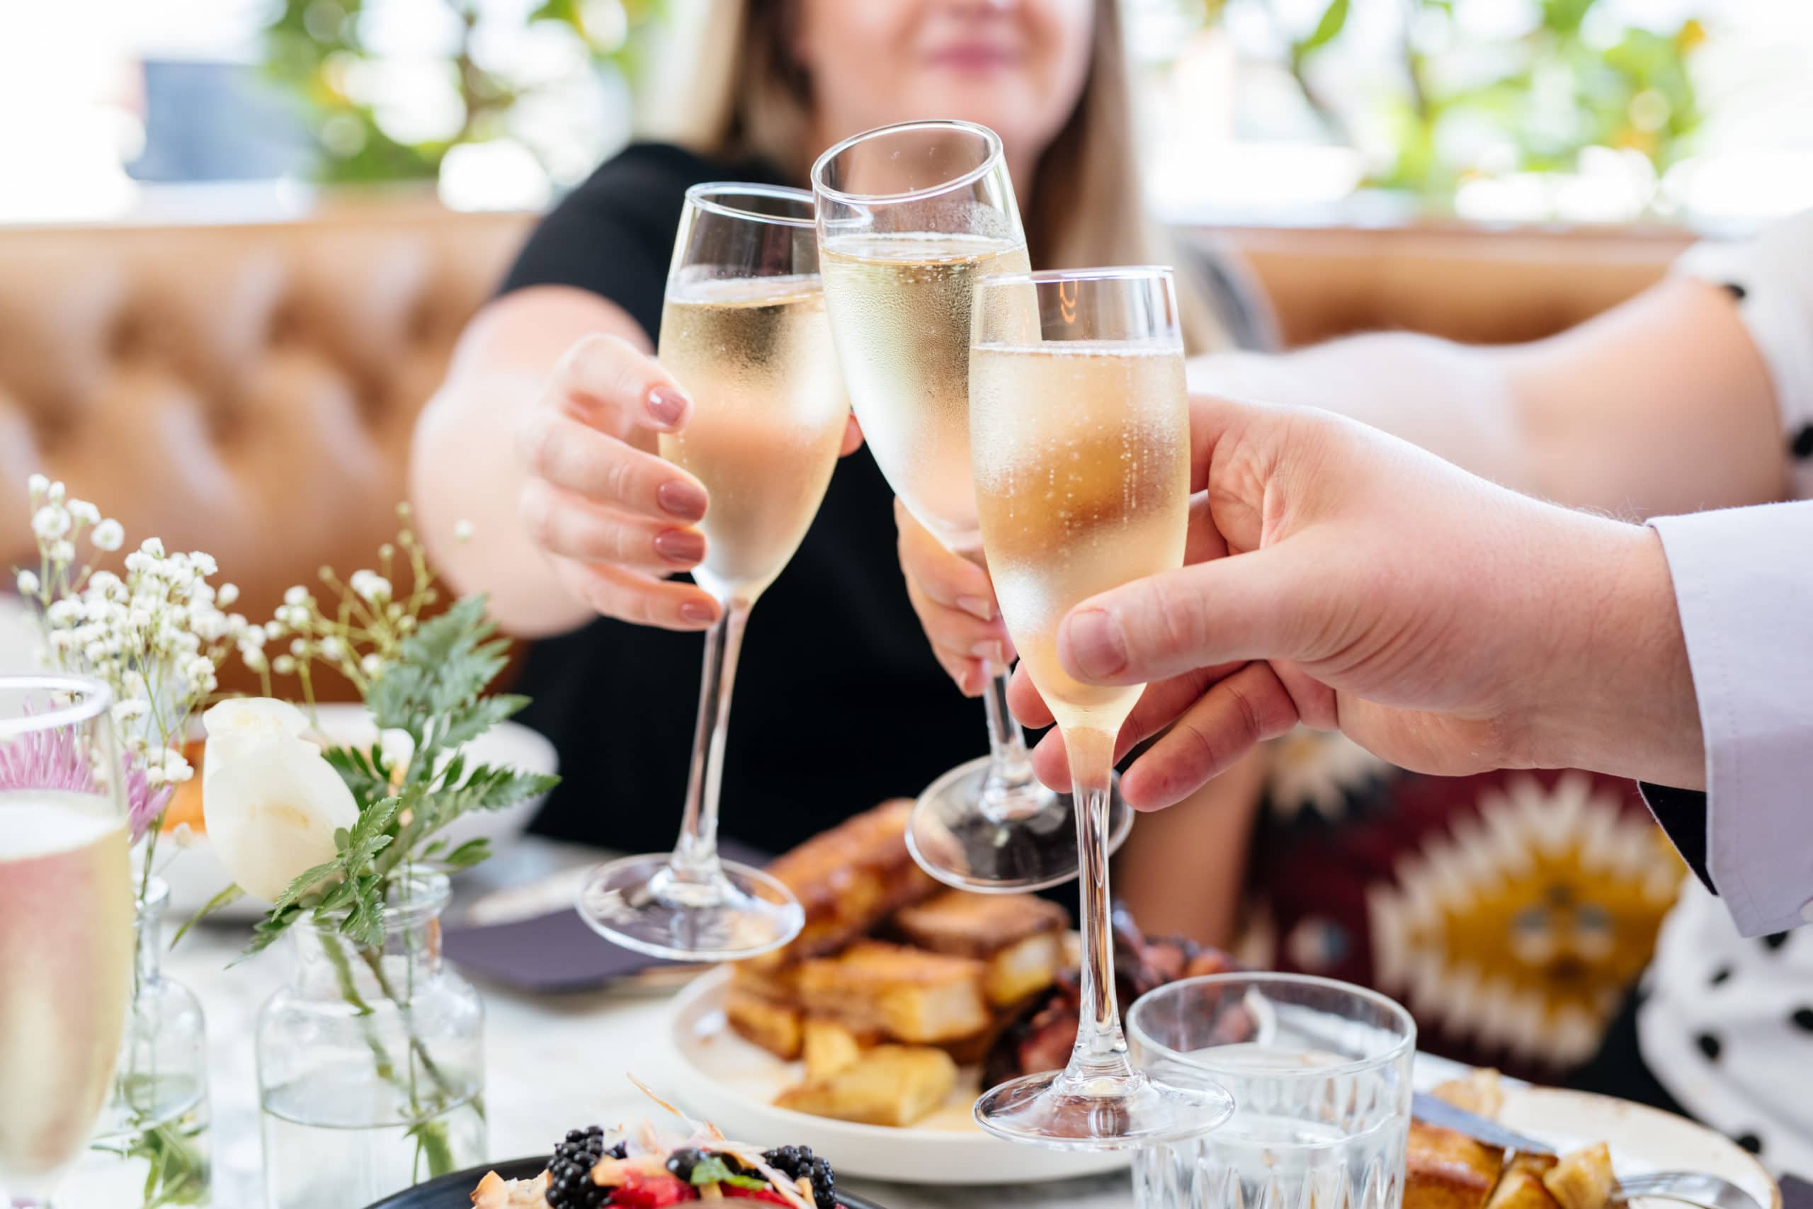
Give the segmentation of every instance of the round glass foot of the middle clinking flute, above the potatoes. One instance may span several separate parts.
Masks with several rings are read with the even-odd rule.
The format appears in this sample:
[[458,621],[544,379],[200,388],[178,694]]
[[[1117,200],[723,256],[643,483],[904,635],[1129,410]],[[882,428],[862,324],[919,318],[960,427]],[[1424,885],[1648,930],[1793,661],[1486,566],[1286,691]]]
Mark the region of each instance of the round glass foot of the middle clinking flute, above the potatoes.
[[[999,821],[983,814],[988,756],[957,765],[932,781],[906,823],[906,850],[919,868],[946,886],[983,894],[1021,894],[1061,886],[1077,875],[1077,817],[1070,794],[1033,781],[1008,798]],[[1133,830],[1120,801],[1120,774],[1108,807],[1108,850]]]

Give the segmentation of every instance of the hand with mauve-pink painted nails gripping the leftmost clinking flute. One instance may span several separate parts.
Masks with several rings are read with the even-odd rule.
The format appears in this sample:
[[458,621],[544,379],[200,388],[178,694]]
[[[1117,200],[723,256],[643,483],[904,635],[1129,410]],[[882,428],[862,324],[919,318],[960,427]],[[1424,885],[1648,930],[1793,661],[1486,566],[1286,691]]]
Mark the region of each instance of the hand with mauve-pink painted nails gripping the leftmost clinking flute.
[[519,513],[562,585],[604,616],[705,629],[720,605],[673,580],[705,558],[705,488],[656,453],[693,402],[660,363],[615,335],[560,359],[517,428]]

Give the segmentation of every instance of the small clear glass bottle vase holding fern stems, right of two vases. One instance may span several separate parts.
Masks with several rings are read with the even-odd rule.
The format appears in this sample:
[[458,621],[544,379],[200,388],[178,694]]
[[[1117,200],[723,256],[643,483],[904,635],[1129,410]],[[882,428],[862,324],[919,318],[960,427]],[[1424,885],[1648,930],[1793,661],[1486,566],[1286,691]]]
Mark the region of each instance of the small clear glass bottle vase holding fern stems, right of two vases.
[[364,1205],[484,1162],[484,1006],[441,964],[442,874],[412,874],[359,948],[303,919],[257,1013],[267,1209]]

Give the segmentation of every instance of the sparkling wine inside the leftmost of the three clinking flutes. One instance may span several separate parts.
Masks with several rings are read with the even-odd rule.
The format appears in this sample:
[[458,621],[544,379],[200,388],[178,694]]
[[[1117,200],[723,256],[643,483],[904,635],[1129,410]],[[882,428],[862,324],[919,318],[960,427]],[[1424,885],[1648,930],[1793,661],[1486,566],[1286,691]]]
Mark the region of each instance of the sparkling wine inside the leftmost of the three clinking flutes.
[[662,457],[711,493],[705,562],[693,578],[752,604],[805,538],[838,464],[848,402],[814,276],[669,288],[662,364],[693,395],[693,419]]

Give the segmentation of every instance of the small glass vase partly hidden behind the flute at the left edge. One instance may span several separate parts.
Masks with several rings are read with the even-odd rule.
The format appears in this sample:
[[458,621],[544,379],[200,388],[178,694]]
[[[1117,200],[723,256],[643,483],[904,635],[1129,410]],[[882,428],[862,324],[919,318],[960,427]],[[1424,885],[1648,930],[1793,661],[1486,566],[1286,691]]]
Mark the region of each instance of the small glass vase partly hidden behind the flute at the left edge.
[[170,888],[158,877],[143,885],[134,919],[132,1002],[112,1095],[92,1147],[58,1198],[71,1209],[208,1204],[207,1022],[196,993],[167,979],[158,964]]

